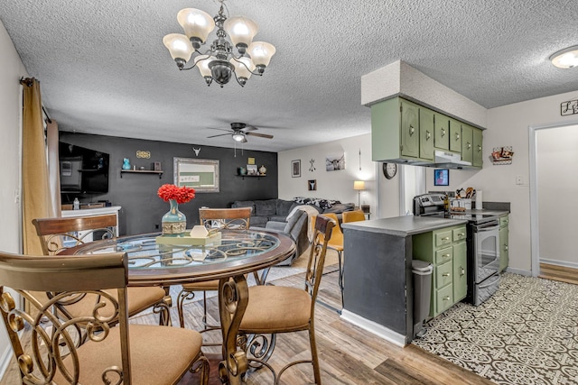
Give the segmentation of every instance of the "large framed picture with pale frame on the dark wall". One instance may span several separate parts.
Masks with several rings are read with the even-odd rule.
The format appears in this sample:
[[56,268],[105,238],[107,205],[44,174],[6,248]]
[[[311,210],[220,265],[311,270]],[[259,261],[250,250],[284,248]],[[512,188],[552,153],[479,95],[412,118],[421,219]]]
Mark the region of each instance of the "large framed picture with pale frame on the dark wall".
[[219,160],[173,158],[174,184],[198,193],[219,192]]

